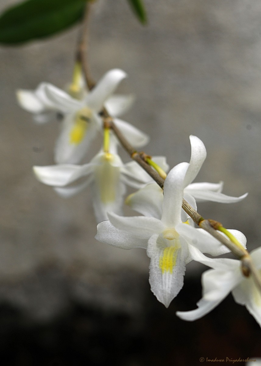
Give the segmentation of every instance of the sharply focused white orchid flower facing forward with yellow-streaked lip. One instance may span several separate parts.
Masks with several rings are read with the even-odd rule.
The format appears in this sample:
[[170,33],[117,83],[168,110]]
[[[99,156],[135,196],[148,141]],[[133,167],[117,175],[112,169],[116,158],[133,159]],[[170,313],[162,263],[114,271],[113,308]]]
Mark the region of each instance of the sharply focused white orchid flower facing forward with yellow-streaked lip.
[[[121,217],[108,213],[109,220],[97,226],[95,238],[122,249],[147,249],[151,290],[166,307],[183,286],[185,265],[193,259],[191,247],[219,255],[227,248],[208,233],[182,223],[181,205],[189,164],[176,165],[164,183],[161,219],[149,216]],[[233,232],[235,236],[237,232]]]

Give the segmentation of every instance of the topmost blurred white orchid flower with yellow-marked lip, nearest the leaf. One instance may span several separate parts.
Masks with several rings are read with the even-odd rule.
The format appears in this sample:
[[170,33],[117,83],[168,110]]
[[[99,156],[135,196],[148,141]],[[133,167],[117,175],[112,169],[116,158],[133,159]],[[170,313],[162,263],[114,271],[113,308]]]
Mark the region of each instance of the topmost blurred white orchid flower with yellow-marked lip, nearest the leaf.
[[[99,116],[103,106],[112,117],[125,112],[132,104],[133,96],[112,96],[118,84],[126,78],[120,69],[108,71],[82,100],[72,98],[64,90],[49,83],[41,83],[35,91],[19,90],[18,101],[36,119],[46,120],[50,113],[64,115],[63,126],[56,142],[54,161],[58,164],[77,164],[86,154],[91,141],[102,130]],[[148,142],[148,136],[131,124],[118,118],[114,123],[135,147]]]

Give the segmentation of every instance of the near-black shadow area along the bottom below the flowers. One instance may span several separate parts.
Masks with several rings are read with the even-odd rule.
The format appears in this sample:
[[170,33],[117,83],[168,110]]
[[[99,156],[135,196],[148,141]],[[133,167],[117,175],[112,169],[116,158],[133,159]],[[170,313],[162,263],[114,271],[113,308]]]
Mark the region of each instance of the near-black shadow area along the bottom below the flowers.
[[201,294],[199,278],[185,280],[179,296],[165,309],[149,285],[145,286],[147,279],[141,277],[137,285],[145,288],[145,302],[143,311],[136,315],[72,301],[59,318],[37,324],[2,303],[1,365],[186,366],[213,364],[200,362],[201,357],[226,360],[261,356],[260,327],[232,296],[203,319],[191,323],[179,320],[175,311],[193,309]]

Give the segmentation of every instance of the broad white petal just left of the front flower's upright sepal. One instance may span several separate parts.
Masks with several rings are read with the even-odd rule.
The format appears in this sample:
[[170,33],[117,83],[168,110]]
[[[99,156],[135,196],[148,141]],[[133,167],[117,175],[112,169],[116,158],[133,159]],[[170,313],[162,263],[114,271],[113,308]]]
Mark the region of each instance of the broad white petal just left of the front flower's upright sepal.
[[125,203],[144,216],[162,216],[163,190],[156,183],[147,184],[139,191],[128,196]]

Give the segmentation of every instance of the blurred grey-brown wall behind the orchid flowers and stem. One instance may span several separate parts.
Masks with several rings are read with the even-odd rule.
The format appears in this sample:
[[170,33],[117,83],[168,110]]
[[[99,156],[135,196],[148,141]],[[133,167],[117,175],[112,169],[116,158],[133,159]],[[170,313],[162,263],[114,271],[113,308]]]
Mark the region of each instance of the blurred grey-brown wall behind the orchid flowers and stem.
[[[0,11],[16,2],[2,0]],[[145,5],[148,25],[142,26],[126,0],[94,4],[91,74],[98,80],[115,67],[128,73],[118,90],[135,93],[136,102],[122,118],[150,134],[145,151],[166,156],[170,167],[189,161],[190,134],[202,139],[207,159],[196,182],[223,180],[223,193],[249,195],[237,204],[201,203],[198,211],[241,230],[250,250],[260,246],[261,3]],[[144,284],[149,288],[145,251],[95,241],[90,191],[63,199],[32,173],[33,165],[53,164],[59,123],[34,124],[15,91],[70,82],[78,33],[76,26],[0,47],[0,302],[32,322],[50,321],[72,301],[142,312]]]

